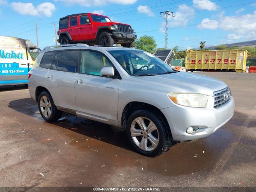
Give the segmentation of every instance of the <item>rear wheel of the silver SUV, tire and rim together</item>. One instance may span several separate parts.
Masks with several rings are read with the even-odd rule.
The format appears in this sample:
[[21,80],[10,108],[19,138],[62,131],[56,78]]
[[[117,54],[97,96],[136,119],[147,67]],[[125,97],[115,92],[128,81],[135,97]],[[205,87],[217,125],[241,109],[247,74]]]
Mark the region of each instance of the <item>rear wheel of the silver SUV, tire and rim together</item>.
[[50,94],[45,91],[38,97],[38,109],[42,118],[47,122],[56,121],[62,116],[62,112],[56,108]]

